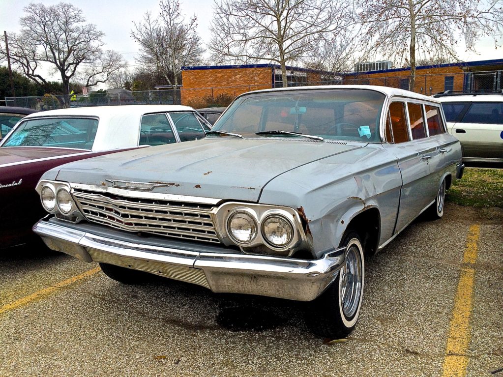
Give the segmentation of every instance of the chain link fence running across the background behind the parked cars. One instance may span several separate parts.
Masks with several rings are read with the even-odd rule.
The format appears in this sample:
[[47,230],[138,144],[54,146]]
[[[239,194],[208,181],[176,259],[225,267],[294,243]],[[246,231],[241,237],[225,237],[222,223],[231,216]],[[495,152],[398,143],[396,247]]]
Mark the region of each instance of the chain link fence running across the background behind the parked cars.
[[[410,77],[406,72],[385,73],[358,72],[331,77],[316,82],[289,82],[289,86],[306,85],[381,85],[408,90]],[[6,97],[7,106],[18,106],[36,110],[52,110],[67,107],[109,105],[188,105],[195,109],[225,107],[241,93],[267,89],[272,82],[262,84],[182,88],[172,90],[95,92],[88,96]],[[503,71],[481,71],[465,73],[437,73],[416,75],[413,91],[432,96],[450,91],[483,92],[503,89]]]

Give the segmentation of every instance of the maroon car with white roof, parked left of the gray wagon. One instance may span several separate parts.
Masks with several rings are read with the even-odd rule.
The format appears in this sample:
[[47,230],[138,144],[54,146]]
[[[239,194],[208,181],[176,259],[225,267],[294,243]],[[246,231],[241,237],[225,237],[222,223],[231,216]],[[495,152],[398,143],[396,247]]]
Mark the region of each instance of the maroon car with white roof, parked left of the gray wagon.
[[26,116],[0,142],[0,248],[38,240],[45,212],[35,185],[55,166],[143,146],[203,138],[192,108],[170,105],[61,109]]

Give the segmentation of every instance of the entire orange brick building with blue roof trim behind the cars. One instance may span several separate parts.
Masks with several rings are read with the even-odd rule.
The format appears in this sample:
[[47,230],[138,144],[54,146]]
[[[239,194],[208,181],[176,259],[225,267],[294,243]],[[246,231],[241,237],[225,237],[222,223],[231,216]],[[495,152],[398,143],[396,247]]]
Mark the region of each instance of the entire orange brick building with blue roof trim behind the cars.
[[[182,69],[181,101],[194,108],[217,102],[228,104],[246,91],[282,86],[281,67],[277,64],[189,66]],[[336,74],[287,67],[288,86],[334,83],[408,89],[409,75],[410,68]],[[415,92],[430,96],[445,90],[503,90],[503,59],[416,67]]]

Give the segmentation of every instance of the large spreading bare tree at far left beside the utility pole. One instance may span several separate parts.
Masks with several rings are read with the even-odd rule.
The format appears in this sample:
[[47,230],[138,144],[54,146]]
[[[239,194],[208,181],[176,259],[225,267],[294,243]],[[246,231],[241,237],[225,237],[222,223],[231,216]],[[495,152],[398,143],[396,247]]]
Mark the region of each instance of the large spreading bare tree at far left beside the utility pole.
[[104,34],[95,25],[86,24],[82,11],[73,5],[31,3],[24,11],[21,32],[9,42],[10,55],[36,83],[47,83],[40,66],[49,64],[52,73],[60,74],[63,92],[69,95],[72,78],[94,86],[125,65],[117,52],[102,50]]

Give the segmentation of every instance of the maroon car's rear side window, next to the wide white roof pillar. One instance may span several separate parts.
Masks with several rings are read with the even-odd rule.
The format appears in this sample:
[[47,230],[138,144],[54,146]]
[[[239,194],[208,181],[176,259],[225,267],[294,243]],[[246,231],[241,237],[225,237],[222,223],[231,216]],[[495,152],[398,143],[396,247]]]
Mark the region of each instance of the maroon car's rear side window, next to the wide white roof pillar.
[[176,143],[166,114],[148,114],[141,117],[140,141],[138,145],[162,145]]

